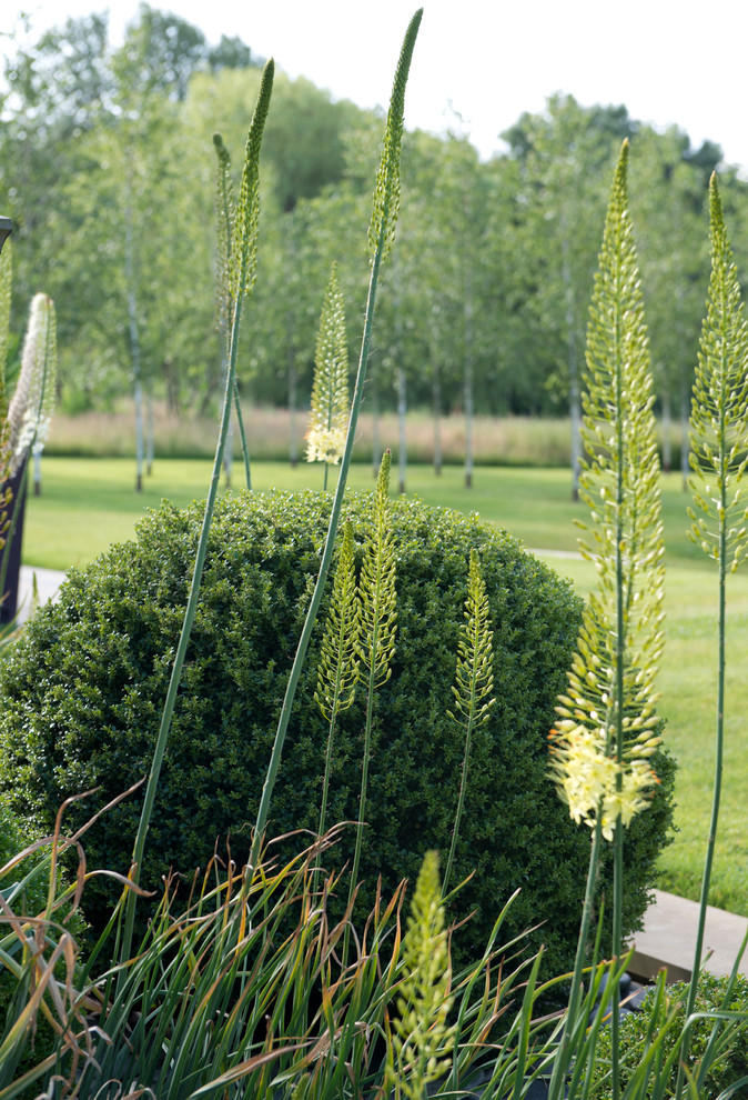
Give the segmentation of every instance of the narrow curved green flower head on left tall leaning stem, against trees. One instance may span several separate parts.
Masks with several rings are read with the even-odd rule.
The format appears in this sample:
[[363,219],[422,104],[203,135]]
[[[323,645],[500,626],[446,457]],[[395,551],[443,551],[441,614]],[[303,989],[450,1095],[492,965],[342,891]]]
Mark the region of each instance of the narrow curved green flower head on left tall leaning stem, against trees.
[[244,168],[239,192],[234,239],[231,251],[231,293],[234,306],[254,283],[260,219],[260,147],[265,129],[275,67],[271,58],[262,70],[257,103],[244,149]]

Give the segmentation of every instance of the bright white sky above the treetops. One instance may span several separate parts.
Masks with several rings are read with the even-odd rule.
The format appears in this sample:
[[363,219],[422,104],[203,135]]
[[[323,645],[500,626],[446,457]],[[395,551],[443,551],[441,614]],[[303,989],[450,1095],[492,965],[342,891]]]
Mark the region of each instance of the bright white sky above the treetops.
[[[151,0],[215,43],[237,34],[290,76],[335,98],[386,106],[417,0]],[[424,0],[405,101],[406,126],[464,120],[483,156],[549,94],[625,103],[635,119],[677,123],[695,146],[717,141],[748,177],[745,0]],[[26,0],[36,26],[105,8],[114,37],[138,0]]]

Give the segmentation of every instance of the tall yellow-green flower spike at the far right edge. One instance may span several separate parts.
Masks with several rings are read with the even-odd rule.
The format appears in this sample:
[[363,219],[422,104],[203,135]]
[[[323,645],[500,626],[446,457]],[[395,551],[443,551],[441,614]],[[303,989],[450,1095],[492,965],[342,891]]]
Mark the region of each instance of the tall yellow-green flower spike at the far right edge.
[[709,183],[711,279],[690,419],[690,538],[731,571],[746,556],[748,328],[716,176]]

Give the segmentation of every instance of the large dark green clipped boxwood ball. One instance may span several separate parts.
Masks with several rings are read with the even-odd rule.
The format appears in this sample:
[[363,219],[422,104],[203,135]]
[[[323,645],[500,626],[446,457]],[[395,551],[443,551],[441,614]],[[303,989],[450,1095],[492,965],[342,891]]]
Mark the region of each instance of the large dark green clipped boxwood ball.
[[[350,494],[358,559],[371,493]],[[188,878],[216,841],[237,861],[249,852],[279,711],[302,629],[331,498],[323,493],[232,494],[218,506],[202,592],[178,696],[155,809],[144,884],[170,867]],[[176,649],[203,504],[164,503],[112,547],[72,571],[57,604],[30,622],[0,670],[1,783],[18,812],[49,829],[71,794],[68,828],[148,774]],[[361,877],[372,902],[415,881],[425,851],[446,857],[463,762],[453,706],[471,548],[479,553],[494,630],[489,720],[474,734],[456,851],[453,916],[475,917],[456,937],[461,954],[482,952],[507,898],[506,940],[544,922],[530,942],[547,966],[570,969],[584,897],[589,831],[575,827],[547,778],[547,732],[577,636],[580,601],[504,532],[475,517],[392,502],[397,560],[397,636],[392,678],[377,692]],[[330,588],[330,584],[328,584]],[[310,646],[269,820],[269,837],[314,830],[327,724],[313,693],[326,603]],[[327,820],[355,820],[365,700],[340,719]],[[669,822],[671,777],[626,834],[627,929],[647,901]],[[127,872],[143,789],[104,814],[85,838],[89,867]],[[242,831],[244,830],[244,831]],[[302,838],[303,840],[303,838]],[[299,841],[297,841],[299,843]],[[334,859],[351,860],[354,830]],[[604,868],[604,876],[609,868]],[[345,893],[345,889],[342,891]],[[87,918],[102,927],[117,887],[92,880]]]

